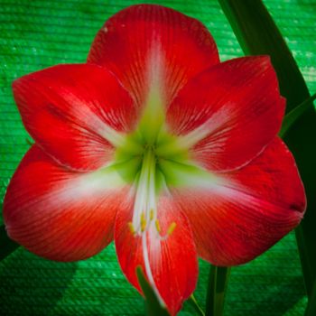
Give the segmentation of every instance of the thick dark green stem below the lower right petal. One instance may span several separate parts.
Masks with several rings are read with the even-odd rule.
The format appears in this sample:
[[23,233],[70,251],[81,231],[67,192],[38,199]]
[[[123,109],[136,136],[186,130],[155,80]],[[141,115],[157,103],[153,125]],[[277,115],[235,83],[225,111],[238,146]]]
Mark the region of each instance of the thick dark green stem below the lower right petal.
[[228,287],[230,268],[211,265],[206,299],[206,316],[221,316],[224,311],[225,293]]

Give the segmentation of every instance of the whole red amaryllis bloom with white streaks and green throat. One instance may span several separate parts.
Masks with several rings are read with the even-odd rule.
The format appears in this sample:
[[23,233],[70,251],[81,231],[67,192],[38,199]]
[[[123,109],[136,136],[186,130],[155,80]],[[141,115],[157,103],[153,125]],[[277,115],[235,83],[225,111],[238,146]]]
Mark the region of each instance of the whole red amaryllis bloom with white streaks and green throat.
[[219,63],[191,17],[128,7],[98,32],[87,64],[13,89],[35,144],[6,192],[5,225],[38,256],[81,260],[114,239],[128,281],[141,291],[141,266],[174,314],[196,286],[198,256],[244,264],[302,219],[269,58]]

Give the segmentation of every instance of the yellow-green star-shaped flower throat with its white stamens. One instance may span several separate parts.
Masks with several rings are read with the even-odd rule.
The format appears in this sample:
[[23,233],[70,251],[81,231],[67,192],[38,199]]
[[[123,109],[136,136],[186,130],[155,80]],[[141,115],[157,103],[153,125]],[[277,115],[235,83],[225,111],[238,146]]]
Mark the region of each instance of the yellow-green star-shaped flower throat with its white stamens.
[[[155,231],[165,238],[175,223],[162,232],[157,218],[157,197],[170,189],[209,181],[209,172],[191,162],[191,139],[171,135],[165,124],[165,107],[158,89],[152,89],[135,131],[116,144],[116,171],[135,188],[135,205],[130,229],[142,236]],[[153,229],[152,229],[153,228]]]

